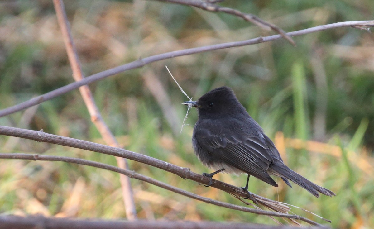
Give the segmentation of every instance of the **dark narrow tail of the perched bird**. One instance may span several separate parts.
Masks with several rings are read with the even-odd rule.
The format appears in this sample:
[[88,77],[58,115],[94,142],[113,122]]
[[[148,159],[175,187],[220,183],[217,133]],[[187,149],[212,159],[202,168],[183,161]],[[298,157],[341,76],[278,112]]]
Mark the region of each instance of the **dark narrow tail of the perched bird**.
[[289,186],[291,185],[289,184],[287,179],[303,187],[316,197],[319,197],[319,192],[327,196],[336,196],[335,193],[331,192],[328,189],[325,189],[324,187],[318,186],[312,181],[307,180],[305,177],[301,176],[300,174],[297,174],[295,171],[292,171],[284,164],[277,166],[276,170],[274,168],[270,170],[272,170],[271,172],[273,172],[275,175],[279,175],[280,177],[282,177],[282,180],[285,181],[285,183]]

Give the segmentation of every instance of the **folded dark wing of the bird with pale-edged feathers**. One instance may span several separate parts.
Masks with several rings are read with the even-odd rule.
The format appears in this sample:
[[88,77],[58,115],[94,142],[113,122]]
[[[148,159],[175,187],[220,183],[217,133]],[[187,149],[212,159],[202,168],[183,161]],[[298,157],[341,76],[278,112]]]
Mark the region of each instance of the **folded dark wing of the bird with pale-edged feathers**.
[[195,130],[196,140],[203,149],[226,164],[269,184],[276,185],[266,172],[273,161],[266,142],[260,138],[237,132],[240,131],[235,131],[230,135],[215,135],[201,126]]

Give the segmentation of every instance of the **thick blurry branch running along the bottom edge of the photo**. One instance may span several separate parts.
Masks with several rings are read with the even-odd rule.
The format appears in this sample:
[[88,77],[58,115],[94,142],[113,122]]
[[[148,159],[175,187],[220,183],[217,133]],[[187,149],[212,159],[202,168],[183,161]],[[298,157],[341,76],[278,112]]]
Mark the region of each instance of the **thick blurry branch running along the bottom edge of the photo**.
[[[0,228],[12,229],[300,229],[300,227],[284,226],[284,225],[263,225],[251,223],[225,223],[225,222],[190,222],[183,220],[137,220],[126,222],[123,220],[98,220],[98,219],[69,219],[69,218],[47,218],[44,216],[0,216]],[[326,229],[325,226],[316,226],[313,229]]]

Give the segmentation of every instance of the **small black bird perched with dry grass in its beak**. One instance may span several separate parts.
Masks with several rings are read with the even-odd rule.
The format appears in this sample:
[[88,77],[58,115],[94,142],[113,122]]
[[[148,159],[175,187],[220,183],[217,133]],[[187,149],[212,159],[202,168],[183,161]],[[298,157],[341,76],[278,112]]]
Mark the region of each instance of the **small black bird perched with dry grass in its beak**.
[[193,128],[192,143],[199,160],[217,171],[203,173],[212,177],[218,172],[246,173],[272,186],[278,184],[270,177],[276,175],[292,188],[288,179],[319,197],[319,193],[335,196],[335,193],[312,183],[288,168],[275,148],[274,143],[264,134],[263,129],[252,119],[237,100],[232,89],[220,87],[209,91],[197,101],[187,101],[197,108],[199,118]]

